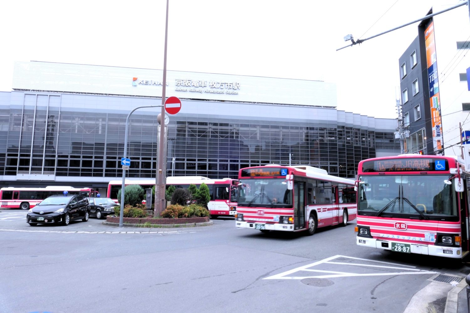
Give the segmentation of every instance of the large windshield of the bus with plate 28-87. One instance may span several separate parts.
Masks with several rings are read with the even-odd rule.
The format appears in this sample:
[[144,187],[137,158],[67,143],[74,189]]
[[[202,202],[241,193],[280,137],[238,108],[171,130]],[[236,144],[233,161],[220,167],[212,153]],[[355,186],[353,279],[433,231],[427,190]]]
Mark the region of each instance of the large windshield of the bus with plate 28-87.
[[449,175],[360,176],[358,210],[377,216],[405,214],[427,219],[457,216],[453,185],[444,183]]

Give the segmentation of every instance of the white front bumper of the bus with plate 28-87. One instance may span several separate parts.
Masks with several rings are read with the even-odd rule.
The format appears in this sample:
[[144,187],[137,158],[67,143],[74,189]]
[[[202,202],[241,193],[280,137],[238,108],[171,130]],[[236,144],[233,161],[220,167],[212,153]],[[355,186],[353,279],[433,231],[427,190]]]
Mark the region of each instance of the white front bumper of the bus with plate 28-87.
[[[360,246],[378,248],[384,250],[391,250],[402,253],[416,253],[426,254],[438,257],[462,259],[462,248],[461,247],[445,247],[433,244],[412,244],[405,243],[403,241],[384,240],[367,237],[356,237],[356,244]],[[403,246],[403,244],[405,246]],[[393,246],[393,249],[392,249]],[[402,251],[402,248],[406,248]],[[409,248],[409,252],[408,251]]]

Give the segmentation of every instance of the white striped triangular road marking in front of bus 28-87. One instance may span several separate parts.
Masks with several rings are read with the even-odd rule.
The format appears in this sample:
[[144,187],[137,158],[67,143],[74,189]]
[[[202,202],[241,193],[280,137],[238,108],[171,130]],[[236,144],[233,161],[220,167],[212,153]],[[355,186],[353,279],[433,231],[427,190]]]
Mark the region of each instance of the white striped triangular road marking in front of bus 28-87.
[[[352,260],[363,260],[367,262],[376,262],[386,265],[370,265],[370,264],[363,264],[363,263],[347,263],[347,262],[332,262],[331,260],[335,260],[337,258],[346,258]],[[379,268],[389,268],[389,269],[398,269],[401,271],[398,272],[391,272],[391,273],[348,273],[348,272],[337,272],[337,271],[328,271],[328,270],[321,270],[321,269],[314,269],[309,267],[314,267],[321,264],[337,264],[337,265],[348,265],[348,266],[359,266],[359,267],[379,267]],[[390,266],[395,265],[395,266]],[[316,272],[316,273],[325,273],[326,275],[315,275],[315,276],[289,276],[290,274],[296,272]],[[328,275],[329,274],[329,275]],[[376,261],[376,260],[368,260],[368,259],[360,259],[354,257],[347,257],[344,255],[335,255],[311,264],[307,264],[301,267],[297,267],[291,269],[289,271],[285,271],[280,274],[272,275],[269,277],[265,277],[263,279],[305,279],[305,278],[333,278],[333,277],[354,277],[354,276],[384,276],[384,275],[414,275],[414,274],[439,274],[439,272],[431,272],[426,270],[416,269],[415,266],[410,265],[402,265],[397,263],[391,262],[384,262],[384,261]]]

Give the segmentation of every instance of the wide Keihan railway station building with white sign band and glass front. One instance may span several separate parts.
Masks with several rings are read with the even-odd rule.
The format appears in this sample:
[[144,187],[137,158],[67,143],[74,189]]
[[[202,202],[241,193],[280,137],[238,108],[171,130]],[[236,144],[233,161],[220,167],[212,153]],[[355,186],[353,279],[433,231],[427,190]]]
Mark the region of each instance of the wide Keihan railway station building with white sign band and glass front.
[[[353,178],[360,160],[400,153],[396,119],[337,110],[336,85],[256,76],[16,62],[0,92],[1,187],[106,188],[156,177],[162,88],[181,99],[166,125],[166,176],[236,178],[303,164]],[[150,107],[156,106],[156,107]]]

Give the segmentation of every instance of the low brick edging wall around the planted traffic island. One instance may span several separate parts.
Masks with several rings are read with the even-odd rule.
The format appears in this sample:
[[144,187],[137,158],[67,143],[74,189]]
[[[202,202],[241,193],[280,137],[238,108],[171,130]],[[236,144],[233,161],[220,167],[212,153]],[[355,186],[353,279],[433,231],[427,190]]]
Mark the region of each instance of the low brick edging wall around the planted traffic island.
[[[119,216],[108,215],[103,225],[119,226]],[[124,227],[195,227],[212,225],[209,216],[182,218],[123,217]]]

